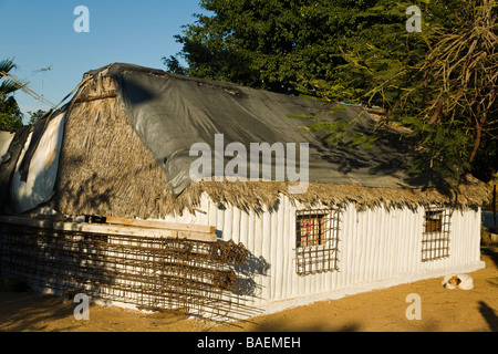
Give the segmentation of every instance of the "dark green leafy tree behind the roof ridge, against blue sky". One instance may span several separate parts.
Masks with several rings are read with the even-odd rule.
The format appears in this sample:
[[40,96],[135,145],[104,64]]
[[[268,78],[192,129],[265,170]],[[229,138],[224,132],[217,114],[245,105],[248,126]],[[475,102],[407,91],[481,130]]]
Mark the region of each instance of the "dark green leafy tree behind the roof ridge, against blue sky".
[[[367,2],[342,0],[203,0],[177,41],[187,74],[295,93],[301,75],[330,79],[340,48],[364,22]],[[375,1],[374,1],[375,2]],[[175,58],[164,58],[175,64]],[[175,67],[173,67],[175,69]]]

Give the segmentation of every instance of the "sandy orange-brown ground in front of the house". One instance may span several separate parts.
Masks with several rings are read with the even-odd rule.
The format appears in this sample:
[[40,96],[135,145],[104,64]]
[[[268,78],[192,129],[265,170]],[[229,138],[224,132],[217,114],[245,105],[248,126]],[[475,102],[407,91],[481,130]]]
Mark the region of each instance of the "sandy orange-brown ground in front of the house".
[[[77,305],[61,298],[0,292],[0,331],[6,332],[498,332],[498,247],[483,248],[486,268],[469,273],[473,290],[448,290],[443,278],[347,298],[321,301],[230,325],[172,313],[144,313],[91,305],[90,320],[75,320]],[[407,320],[406,296],[421,296],[421,320]]]

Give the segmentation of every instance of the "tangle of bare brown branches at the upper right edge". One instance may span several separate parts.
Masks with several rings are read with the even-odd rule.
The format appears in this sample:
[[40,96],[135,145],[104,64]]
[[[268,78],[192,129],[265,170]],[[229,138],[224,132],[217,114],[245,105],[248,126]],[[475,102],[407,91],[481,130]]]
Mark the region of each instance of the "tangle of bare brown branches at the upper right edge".
[[443,32],[422,65],[432,100],[421,114],[429,124],[470,132],[474,143],[470,163],[477,155],[484,131],[497,128],[496,6],[495,0],[467,4],[461,24]]

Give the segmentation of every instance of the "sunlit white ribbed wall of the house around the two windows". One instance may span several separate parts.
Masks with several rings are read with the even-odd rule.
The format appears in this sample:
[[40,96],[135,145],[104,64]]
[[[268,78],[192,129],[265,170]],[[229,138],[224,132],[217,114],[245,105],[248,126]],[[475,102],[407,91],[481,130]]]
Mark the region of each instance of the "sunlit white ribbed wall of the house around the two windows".
[[[204,212],[170,216],[169,221],[215,226],[224,240],[242,242],[251,253],[256,272],[251,294],[238,299],[248,305],[305,303],[330,296],[383,288],[484,267],[479,261],[480,210],[455,210],[450,218],[450,257],[422,262],[424,208],[357,211],[343,209],[340,230],[340,270],[298,275],[295,272],[295,210],[281,196],[277,211],[257,215],[238,208],[220,209],[206,196]],[[259,273],[264,264],[269,267]],[[259,272],[258,272],[259,271]],[[282,302],[287,301],[287,302]]]

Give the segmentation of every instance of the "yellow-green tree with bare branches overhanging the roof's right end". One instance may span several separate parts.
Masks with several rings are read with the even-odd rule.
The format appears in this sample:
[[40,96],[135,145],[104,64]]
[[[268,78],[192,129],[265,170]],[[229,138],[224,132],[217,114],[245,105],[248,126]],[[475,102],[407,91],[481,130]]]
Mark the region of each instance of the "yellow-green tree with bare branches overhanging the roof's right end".
[[497,166],[496,1],[460,1],[449,12],[437,1],[427,4],[422,33],[374,30],[371,40],[343,51],[346,63],[335,77],[311,82],[313,93],[385,108],[382,123],[407,128],[405,136],[417,146],[409,173],[455,180],[473,171],[488,180]]

